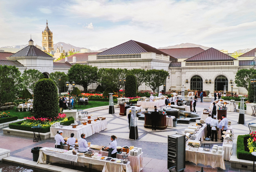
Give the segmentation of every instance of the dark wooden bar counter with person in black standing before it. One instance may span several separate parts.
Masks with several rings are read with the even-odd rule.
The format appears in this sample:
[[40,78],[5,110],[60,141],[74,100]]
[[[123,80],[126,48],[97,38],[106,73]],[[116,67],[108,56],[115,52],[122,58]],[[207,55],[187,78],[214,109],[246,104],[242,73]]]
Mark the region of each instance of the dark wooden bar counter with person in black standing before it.
[[[148,113],[144,112],[145,115],[145,124],[144,127],[145,128],[152,128],[152,124],[151,124],[151,112],[153,111],[149,111]],[[159,119],[156,125],[156,129],[157,130],[164,130],[165,128],[167,128],[166,126],[166,114],[160,114],[159,115]]]

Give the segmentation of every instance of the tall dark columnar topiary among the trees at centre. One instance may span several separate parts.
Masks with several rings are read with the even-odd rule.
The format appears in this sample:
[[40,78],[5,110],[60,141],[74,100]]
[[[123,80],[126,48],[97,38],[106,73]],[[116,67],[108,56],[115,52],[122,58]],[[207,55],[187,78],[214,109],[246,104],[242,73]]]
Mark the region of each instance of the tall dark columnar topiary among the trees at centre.
[[124,87],[125,97],[136,97],[137,81],[135,75],[126,75],[126,82]]

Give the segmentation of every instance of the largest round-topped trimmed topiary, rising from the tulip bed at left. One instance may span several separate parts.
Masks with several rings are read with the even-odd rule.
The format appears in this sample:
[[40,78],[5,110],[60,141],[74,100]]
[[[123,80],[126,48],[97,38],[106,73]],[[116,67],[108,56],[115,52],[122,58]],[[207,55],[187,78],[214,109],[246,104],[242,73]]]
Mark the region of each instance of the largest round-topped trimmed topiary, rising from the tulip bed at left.
[[58,89],[52,79],[36,82],[33,114],[35,118],[54,118],[59,114]]

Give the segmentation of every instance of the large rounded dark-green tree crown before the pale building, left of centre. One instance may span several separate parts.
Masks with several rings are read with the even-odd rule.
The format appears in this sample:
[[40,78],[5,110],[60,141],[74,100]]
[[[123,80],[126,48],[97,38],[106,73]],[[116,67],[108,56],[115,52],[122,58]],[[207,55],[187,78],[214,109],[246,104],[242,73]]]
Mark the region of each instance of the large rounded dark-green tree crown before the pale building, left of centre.
[[75,64],[68,70],[68,81],[76,82],[76,85],[81,85],[86,91],[90,84],[97,82],[97,72],[98,67],[96,66]]

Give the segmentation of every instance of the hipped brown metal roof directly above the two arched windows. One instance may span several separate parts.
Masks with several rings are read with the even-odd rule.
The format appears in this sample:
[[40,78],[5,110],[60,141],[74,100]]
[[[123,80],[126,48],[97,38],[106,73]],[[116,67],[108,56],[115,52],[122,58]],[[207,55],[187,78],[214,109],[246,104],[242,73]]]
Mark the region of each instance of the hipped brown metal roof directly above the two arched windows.
[[214,48],[209,48],[202,53],[188,58],[185,61],[233,61],[235,58],[220,52]]

